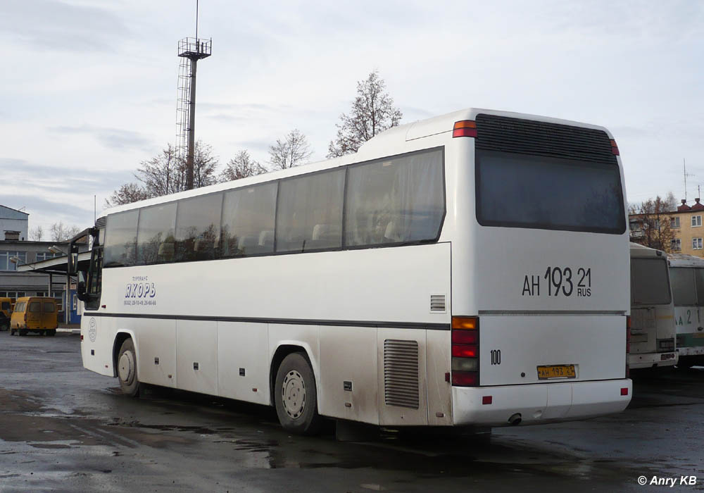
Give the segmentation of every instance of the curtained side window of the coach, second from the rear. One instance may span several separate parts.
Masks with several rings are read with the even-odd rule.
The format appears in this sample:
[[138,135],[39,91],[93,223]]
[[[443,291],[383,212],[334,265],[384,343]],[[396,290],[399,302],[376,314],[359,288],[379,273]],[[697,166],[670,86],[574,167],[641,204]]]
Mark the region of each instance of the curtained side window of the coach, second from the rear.
[[276,218],[276,251],[342,246],[344,180],[344,169],[282,180]]

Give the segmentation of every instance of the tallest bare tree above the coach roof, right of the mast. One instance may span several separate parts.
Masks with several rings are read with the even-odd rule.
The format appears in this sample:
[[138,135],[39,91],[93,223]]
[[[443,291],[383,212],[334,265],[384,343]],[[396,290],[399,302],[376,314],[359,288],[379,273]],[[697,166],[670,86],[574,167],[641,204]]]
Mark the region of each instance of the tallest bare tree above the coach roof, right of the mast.
[[403,118],[394,99],[385,92],[386,83],[377,70],[357,82],[357,96],[349,113],[340,115],[337,136],[327,146],[327,157],[353,154],[360,146],[384,130],[395,127]]

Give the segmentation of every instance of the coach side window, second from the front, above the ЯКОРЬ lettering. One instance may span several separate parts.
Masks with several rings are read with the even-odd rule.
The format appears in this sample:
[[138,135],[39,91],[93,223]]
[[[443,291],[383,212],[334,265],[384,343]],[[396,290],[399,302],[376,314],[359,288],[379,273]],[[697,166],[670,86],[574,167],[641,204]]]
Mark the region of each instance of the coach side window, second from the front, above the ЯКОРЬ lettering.
[[137,264],[174,261],[176,202],[145,207],[139,211]]

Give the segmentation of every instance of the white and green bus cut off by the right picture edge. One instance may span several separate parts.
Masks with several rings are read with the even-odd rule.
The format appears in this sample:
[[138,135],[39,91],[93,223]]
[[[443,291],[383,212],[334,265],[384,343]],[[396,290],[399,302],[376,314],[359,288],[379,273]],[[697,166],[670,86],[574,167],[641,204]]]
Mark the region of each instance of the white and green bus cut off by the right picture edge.
[[670,254],[677,366],[704,366],[704,258]]

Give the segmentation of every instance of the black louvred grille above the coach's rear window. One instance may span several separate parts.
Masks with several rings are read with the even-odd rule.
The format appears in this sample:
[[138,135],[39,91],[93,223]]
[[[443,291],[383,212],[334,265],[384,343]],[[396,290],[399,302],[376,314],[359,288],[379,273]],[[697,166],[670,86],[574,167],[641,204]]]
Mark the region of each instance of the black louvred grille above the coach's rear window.
[[603,130],[484,113],[476,120],[476,149],[617,164]]

